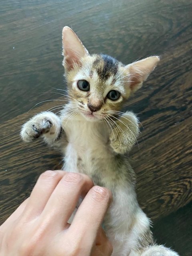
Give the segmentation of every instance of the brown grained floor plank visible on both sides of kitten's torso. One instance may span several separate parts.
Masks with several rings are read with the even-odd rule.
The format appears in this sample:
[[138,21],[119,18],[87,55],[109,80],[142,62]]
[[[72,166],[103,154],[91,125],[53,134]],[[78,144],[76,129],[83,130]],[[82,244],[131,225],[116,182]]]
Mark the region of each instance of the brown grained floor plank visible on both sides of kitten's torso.
[[[40,109],[42,108],[44,107]],[[34,112],[36,109],[31,114]],[[28,116],[28,113],[23,114],[2,124],[0,150],[3,169],[0,172],[0,184],[3,194],[0,196],[0,204],[5,211],[2,211],[0,218],[3,220],[10,213],[9,207],[14,206],[16,195],[20,195],[18,202],[23,199],[22,194],[28,196],[39,174],[46,169],[56,168],[61,160],[58,154],[47,149],[40,141],[30,145],[21,141],[20,126]],[[135,146],[132,152],[134,169],[138,174],[139,202],[152,219],[169,214],[192,198],[189,140],[191,124],[192,117],[189,117],[146,141],[141,138],[140,149]],[[12,128],[11,134],[9,128]],[[152,128],[149,127],[148,130]],[[26,189],[29,180],[33,182],[30,189]]]

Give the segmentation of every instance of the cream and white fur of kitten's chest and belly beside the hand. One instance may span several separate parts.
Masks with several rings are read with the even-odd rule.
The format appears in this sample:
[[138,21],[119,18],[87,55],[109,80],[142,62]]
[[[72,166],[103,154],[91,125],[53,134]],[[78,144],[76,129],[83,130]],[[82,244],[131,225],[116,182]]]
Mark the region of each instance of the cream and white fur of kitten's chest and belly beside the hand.
[[[63,128],[68,140],[64,170],[85,173],[94,181],[100,179],[108,188],[118,183],[112,191],[113,202],[106,214],[104,225],[114,247],[112,255],[129,255],[130,251],[137,247],[138,237],[143,230],[149,228],[150,223],[138,206],[134,185],[125,178],[128,175],[127,166],[123,162],[120,170],[118,170],[119,166],[115,166],[115,154],[110,151],[108,144],[108,127],[102,122],[73,119],[67,123],[67,126],[64,123]],[[134,228],[128,232],[134,219],[136,219]]]

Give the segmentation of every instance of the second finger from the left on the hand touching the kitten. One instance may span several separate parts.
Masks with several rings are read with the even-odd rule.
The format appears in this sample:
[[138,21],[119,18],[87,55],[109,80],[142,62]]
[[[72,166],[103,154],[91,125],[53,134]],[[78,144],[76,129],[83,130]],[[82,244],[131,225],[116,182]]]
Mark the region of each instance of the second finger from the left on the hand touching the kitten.
[[41,214],[52,192],[65,174],[66,172],[61,170],[48,170],[40,175],[26,205],[25,218],[35,218]]

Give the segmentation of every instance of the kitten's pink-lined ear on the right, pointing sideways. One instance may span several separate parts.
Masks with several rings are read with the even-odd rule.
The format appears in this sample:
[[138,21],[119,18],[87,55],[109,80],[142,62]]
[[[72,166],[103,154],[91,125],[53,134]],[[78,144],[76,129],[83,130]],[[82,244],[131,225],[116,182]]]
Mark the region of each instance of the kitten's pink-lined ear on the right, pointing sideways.
[[133,62],[125,66],[127,80],[132,92],[141,88],[142,83],[148,78],[160,60],[159,56],[152,56]]

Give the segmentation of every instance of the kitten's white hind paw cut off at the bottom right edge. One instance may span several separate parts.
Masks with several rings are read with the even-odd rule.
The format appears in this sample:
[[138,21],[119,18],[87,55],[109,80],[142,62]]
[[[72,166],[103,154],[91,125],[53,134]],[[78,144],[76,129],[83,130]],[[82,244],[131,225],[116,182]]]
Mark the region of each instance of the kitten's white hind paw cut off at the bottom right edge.
[[141,256],[179,256],[179,254],[165,246],[153,245],[144,250]]

